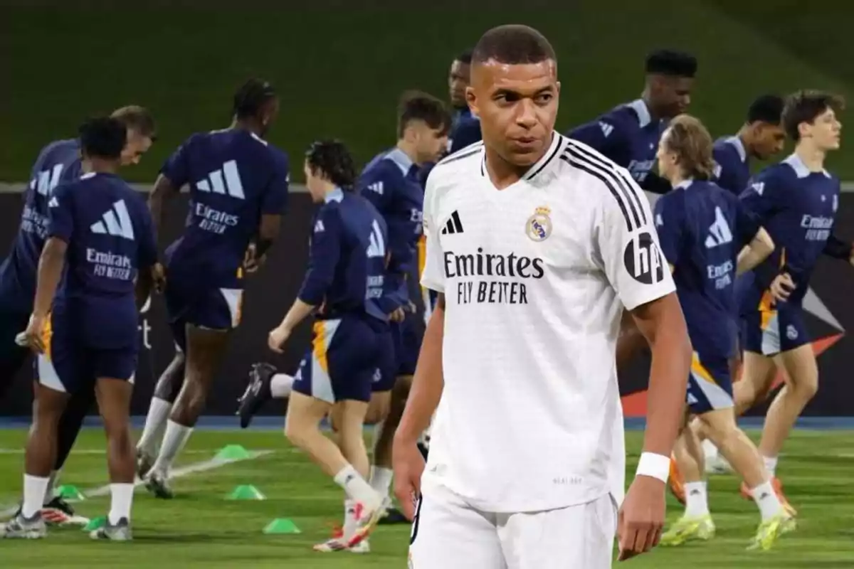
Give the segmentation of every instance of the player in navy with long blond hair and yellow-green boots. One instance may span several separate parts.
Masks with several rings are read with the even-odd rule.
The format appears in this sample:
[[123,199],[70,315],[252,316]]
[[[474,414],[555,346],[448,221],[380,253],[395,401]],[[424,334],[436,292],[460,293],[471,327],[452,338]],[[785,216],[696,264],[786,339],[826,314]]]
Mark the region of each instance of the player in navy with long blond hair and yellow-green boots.
[[[752,489],[762,523],[751,547],[769,549],[781,533],[793,529],[794,519],[776,496],[756,446],[735,423],[729,361],[736,345],[735,276],[767,258],[774,243],[738,197],[709,182],[714,167],[705,126],[688,115],[673,119],[658,147],[658,173],[674,191],[656,203],[655,224],[694,350],[688,408]],[[715,533],[702,478],[703,453],[690,429],[680,443],[686,450],[677,456],[683,459],[687,508],[664,533],[662,545],[710,539]]]

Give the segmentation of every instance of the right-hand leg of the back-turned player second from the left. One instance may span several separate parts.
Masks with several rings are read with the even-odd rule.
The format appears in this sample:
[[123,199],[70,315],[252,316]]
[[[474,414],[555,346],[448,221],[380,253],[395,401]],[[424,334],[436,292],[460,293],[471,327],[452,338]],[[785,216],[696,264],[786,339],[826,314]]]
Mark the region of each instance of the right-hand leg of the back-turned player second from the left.
[[110,510],[107,523],[91,532],[93,539],[129,541],[135,452],[131,438],[131,396],[137,350],[108,351],[96,368],[98,410],[107,435]]

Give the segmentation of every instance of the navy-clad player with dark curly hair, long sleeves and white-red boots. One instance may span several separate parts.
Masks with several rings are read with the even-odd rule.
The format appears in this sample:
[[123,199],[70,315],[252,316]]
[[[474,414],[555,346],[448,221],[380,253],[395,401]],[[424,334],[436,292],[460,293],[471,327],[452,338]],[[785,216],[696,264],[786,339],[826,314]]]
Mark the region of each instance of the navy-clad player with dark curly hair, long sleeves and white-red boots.
[[[341,142],[315,142],[306,154],[306,185],[321,202],[313,220],[308,271],[290,311],[270,332],[282,351],[293,329],[315,314],[312,347],[293,378],[284,432],[290,442],[335,479],[353,501],[357,524],[337,543],[318,549],[350,549],[364,542],[387,505],[371,488],[362,427],[371,384],[392,350],[383,298],[388,232],[371,203],[354,194],[355,167]],[[320,432],[327,414],[337,421],[336,443]],[[352,530],[348,533],[348,530]]]

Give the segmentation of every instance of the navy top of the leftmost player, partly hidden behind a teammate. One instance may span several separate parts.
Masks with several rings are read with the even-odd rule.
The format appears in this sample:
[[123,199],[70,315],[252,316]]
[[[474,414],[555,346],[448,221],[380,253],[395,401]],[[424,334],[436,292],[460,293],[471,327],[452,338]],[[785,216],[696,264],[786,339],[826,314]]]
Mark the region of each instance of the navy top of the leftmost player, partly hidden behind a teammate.
[[51,142],[38,154],[24,193],[20,229],[9,257],[0,265],[0,297],[29,312],[36,291],[38,258],[48,224],[48,200],[56,186],[80,175],[77,139]]

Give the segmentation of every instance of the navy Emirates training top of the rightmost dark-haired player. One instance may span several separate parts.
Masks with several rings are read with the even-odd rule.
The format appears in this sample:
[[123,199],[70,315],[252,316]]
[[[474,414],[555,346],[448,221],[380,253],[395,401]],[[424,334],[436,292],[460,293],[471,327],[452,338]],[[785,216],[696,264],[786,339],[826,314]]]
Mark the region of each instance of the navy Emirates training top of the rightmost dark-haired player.
[[795,283],[787,303],[800,305],[834,227],[839,187],[839,178],[828,171],[810,171],[797,154],[792,154],[759,172],[740,195],[775,242],[774,252],[753,270],[748,305],[757,306],[759,297],[784,266]]

